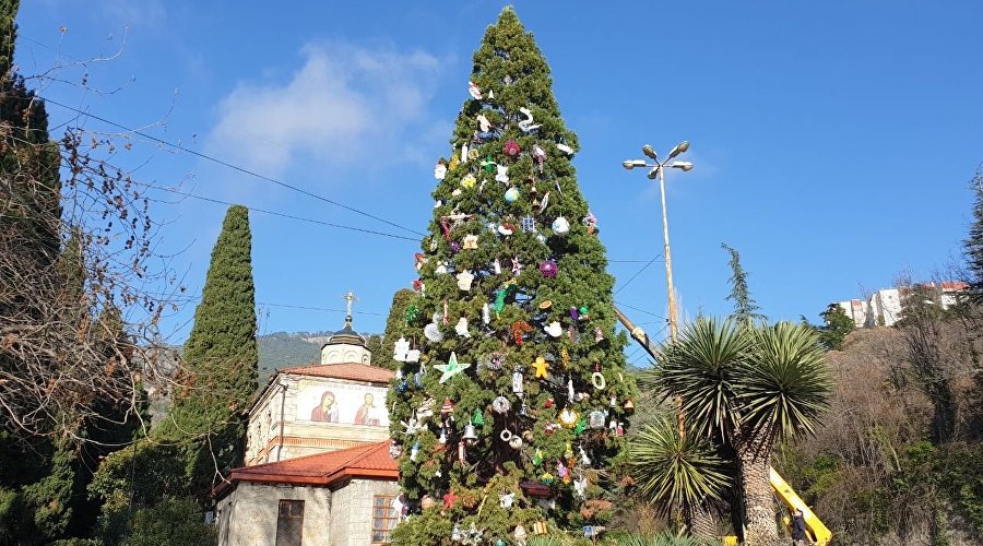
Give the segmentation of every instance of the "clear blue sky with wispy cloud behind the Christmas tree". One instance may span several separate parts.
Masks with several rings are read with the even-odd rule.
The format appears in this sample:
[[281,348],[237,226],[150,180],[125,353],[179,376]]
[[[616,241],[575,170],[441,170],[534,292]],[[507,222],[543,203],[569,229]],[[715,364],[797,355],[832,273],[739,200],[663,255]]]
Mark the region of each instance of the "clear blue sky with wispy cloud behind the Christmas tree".
[[[433,166],[467,97],[471,55],[498,2],[33,0],[25,74],[40,94],[423,230]],[[772,319],[928,275],[960,251],[983,161],[983,3],[520,2],[581,141],[580,185],[619,286],[662,253],[658,188],[620,162],[689,140],[667,179],[687,313],[725,313],[721,241],[737,248]],[[64,27],[62,32],[60,27]],[[72,61],[90,62],[88,88]],[[111,93],[109,93],[111,92]],[[73,112],[50,106],[52,124]],[[109,130],[92,119],[86,127]],[[408,235],[193,155],[133,139],[139,179],[322,222]],[[197,294],[225,207],[157,203],[162,251]],[[417,244],[251,215],[261,331],[380,331],[414,278]],[[641,260],[641,262],[637,262]],[[616,299],[658,331],[663,263]],[[270,304],[323,308],[321,310]],[[193,305],[168,319],[187,334]]]

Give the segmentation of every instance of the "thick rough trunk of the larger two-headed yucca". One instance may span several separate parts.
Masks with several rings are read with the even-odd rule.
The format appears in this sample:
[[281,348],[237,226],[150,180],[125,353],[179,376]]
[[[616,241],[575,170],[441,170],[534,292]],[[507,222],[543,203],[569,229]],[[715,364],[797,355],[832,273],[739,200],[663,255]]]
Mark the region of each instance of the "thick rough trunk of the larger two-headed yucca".
[[747,438],[737,446],[746,518],[744,544],[748,546],[781,544],[774,519],[774,497],[771,494],[769,478],[771,443],[766,435],[758,435]]

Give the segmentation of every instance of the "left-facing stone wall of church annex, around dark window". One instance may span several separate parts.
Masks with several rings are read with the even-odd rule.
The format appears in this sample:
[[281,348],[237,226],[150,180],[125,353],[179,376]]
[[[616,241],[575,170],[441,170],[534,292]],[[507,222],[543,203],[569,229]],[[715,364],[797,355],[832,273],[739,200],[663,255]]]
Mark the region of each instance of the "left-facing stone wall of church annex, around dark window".
[[[332,495],[327,487],[239,483],[228,496],[218,501],[218,546],[276,544],[281,500],[304,501],[304,545],[334,544],[330,543],[333,535],[330,524]],[[363,539],[345,544],[368,542]]]

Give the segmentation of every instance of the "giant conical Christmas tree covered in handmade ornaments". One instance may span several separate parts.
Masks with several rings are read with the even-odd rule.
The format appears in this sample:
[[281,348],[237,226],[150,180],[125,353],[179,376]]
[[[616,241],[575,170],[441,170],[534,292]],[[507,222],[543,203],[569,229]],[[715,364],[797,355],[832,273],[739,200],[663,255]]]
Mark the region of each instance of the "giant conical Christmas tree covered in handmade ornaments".
[[510,8],[461,87],[394,335],[392,451],[411,514],[398,544],[514,544],[603,525],[636,392],[571,165],[577,138]]

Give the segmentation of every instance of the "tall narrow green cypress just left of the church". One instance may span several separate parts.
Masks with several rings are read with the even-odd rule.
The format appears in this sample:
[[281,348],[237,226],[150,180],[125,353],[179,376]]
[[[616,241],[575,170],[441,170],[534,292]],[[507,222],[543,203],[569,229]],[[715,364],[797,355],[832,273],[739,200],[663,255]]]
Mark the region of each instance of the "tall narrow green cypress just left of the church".
[[258,388],[256,296],[249,211],[228,209],[185,344],[185,389],[176,393],[159,436],[188,440],[192,492],[240,456],[245,413]]

